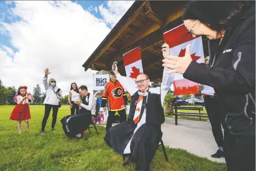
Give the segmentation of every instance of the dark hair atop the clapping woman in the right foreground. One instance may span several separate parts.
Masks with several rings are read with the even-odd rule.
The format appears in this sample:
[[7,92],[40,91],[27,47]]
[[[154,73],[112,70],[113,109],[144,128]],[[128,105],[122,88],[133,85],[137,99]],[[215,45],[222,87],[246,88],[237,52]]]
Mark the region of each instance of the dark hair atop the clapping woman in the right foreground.
[[182,20],[199,20],[219,32],[239,22],[242,13],[253,3],[255,6],[254,1],[190,1]]

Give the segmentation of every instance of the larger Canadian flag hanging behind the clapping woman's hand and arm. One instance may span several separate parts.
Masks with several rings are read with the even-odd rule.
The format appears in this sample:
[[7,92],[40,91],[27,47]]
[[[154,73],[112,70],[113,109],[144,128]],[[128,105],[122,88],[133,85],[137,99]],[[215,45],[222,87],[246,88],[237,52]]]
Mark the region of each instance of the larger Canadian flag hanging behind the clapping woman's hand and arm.
[[[191,44],[190,53],[193,60],[198,63],[204,62],[203,41],[201,36],[193,38],[187,33],[184,24],[175,27],[164,33],[164,40],[170,47],[170,55],[176,57],[184,57],[186,47]],[[175,73],[173,82],[175,95],[199,94],[197,91],[197,83],[187,80],[180,73]]]

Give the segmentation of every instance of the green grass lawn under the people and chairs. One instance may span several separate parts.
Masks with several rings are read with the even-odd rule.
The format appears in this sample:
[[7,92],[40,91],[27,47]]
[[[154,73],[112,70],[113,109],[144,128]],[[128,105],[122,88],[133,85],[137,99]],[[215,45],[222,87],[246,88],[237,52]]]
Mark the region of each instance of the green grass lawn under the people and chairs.
[[[13,108],[12,105],[0,106],[0,170],[134,170],[134,165],[122,167],[122,156],[105,144],[102,126],[97,126],[98,136],[94,130],[91,135],[86,132],[84,137],[88,140],[66,139],[60,119],[69,114],[68,105],[62,105],[59,110],[55,132],[50,131],[50,115],[44,135],[39,135],[43,105],[30,105],[30,131],[25,131],[22,122],[21,135],[16,121],[9,120]],[[226,170],[226,164],[200,158],[185,150],[167,148],[167,154],[168,162],[160,149],[156,151],[151,170]]]

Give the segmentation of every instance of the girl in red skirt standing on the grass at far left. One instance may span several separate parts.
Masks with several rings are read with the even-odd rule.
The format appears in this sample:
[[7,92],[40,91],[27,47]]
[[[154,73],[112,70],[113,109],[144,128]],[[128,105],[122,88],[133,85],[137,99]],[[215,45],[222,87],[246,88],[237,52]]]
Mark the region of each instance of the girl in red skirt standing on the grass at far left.
[[34,98],[31,93],[26,93],[26,86],[20,86],[17,94],[15,95],[14,101],[17,105],[12,110],[10,119],[17,121],[19,133],[21,133],[21,121],[25,121],[26,131],[29,131],[29,119],[30,110],[29,110],[29,99],[34,101]]

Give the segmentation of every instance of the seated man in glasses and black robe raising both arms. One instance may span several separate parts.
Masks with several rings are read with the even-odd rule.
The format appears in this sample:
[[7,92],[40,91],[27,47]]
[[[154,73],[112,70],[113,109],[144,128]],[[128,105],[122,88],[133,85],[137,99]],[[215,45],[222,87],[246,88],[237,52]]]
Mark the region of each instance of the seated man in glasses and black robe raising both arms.
[[[104,140],[119,154],[129,156],[123,165],[134,161],[137,164],[136,170],[148,171],[163,135],[163,101],[173,83],[174,75],[164,74],[161,87],[152,88],[149,86],[149,77],[140,73],[136,79],[136,87],[135,84],[129,85],[126,77],[119,74],[116,63],[112,70],[120,84],[132,95],[132,102],[128,121],[109,128]],[[168,70],[164,68],[164,72]]]

